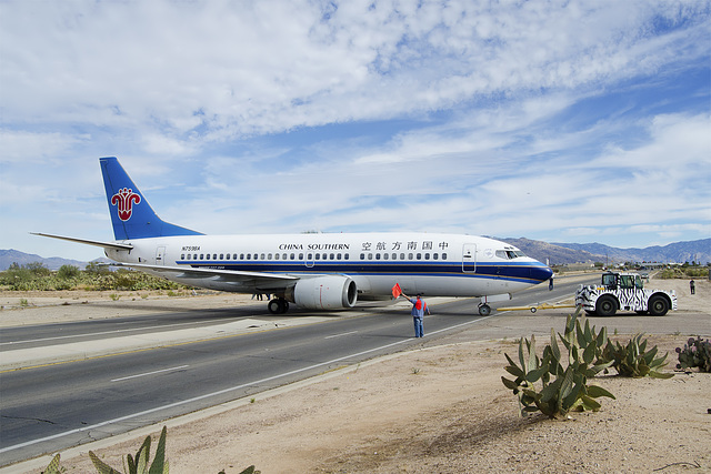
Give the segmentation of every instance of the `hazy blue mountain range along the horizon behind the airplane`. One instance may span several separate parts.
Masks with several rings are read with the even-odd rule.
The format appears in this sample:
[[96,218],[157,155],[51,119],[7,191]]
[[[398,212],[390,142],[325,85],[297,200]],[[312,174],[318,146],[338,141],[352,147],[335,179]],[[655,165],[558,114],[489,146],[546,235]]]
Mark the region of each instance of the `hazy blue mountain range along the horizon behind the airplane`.
[[[551,265],[564,265],[579,262],[602,262],[605,264],[623,262],[698,262],[707,264],[711,262],[711,239],[674,242],[664,246],[654,245],[648,246],[647,249],[618,249],[601,243],[548,243],[524,238],[494,239],[518,246],[527,255],[541,262],[548,261]],[[94,260],[94,262],[97,261],[107,262],[108,260],[101,258]],[[89,263],[59,256],[43,258],[17,250],[0,250],[0,271],[7,270],[12,263],[26,265],[34,262],[40,262],[50,270],[59,270],[62,265],[73,265],[83,269]]]

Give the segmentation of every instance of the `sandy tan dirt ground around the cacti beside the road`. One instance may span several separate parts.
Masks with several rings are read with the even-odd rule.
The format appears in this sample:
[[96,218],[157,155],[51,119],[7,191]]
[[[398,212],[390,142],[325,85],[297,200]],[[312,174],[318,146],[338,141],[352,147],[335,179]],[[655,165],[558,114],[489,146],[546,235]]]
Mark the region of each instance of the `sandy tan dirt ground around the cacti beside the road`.
[[[687,280],[653,280],[648,286],[675,290],[679,311],[591,323],[608,326],[610,335],[617,330],[624,342],[625,335],[647,333],[661,353],[669,352],[665,372],[672,372],[675,347],[689,336],[711,335],[711,283],[698,281],[695,295],[689,294]],[[7,294],[0,297],[12,305]],[[0,316],[6,321],[10,313],[26,313],[21,319],[28,324],[36,311],[42,312],[3,310]],[[432,343],[425,336],[414,351],[169,421],[171,472],[230,474],[251,464],[264,474],[711,472],[711,374],[600,376],[593,382],[615,400],[600,399],[597,413],[573,413],[562,421],[519,416],[515,396],[501,383],[508,375],[503,353],[515,356],[515,339],[532,333],[542,347],[551,327],[563,330],[567,314],[498,315]],[[134,453],[147,434],[157,437],[160,427],[68,450],[62,466],[94,472],[86,454],[92,450],[119,467],[121,455]]]

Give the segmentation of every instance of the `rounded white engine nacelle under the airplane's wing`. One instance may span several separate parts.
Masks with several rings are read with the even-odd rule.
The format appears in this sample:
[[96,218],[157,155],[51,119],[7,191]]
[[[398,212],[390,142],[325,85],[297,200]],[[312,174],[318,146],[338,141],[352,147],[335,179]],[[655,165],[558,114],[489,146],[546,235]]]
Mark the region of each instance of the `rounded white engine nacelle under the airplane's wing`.
[[356,305],[358,288],[350,276],[317,276],[299,280],[286,296],[307,310],[341,310]]

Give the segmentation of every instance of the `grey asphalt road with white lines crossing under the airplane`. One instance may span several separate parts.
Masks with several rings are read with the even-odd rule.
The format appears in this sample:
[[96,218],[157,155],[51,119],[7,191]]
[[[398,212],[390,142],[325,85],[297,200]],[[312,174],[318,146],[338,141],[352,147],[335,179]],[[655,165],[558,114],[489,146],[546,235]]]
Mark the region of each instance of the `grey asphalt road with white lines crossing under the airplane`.
[[[597,279],[597,276],[595,276]],[[504,305],[571,295],[580,282],[539,285]],[[328,321],[228,335],[87,361],[0,373],[0,465],[116,435],[139,426],[251,396],[375,356],[437,343],[481,321],[478,300],[439,304],[425,337],[412,337],[402,309],[334,314]],[[494,305],[495,306],[495,305]],[[167,313],[0,331],[0,349],[36,347],[117,334],[172,331],[254,317],[256,307]],[[260,311],[266,309],[259,307]],[[264,313],[259,313],[263,315]],[[497,311],[489,317],[495,317]],[[0,352],[1,356],[1,352]]]

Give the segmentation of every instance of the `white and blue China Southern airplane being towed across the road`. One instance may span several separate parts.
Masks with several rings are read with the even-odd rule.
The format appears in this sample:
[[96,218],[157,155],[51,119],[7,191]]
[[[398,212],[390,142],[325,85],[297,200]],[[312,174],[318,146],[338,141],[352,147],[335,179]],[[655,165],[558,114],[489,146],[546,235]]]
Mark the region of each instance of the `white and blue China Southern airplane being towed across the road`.
[[352,309],[358,300],[423,296],[490,302],[550,280],[553,272],[515,246],[448,233],[206,235],[162,221],[116,157],[99,159],[114,241],[33,233],[103,248],[126,266],[210,290],[267,293],[272,314]]

